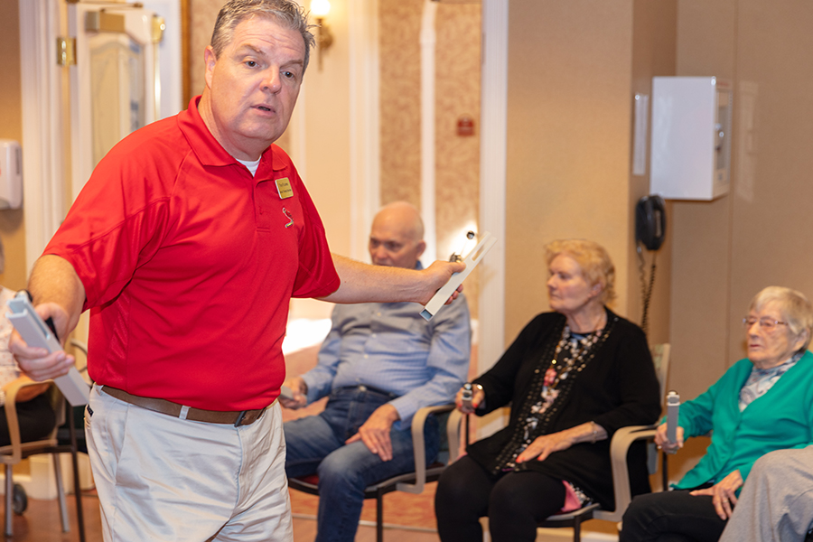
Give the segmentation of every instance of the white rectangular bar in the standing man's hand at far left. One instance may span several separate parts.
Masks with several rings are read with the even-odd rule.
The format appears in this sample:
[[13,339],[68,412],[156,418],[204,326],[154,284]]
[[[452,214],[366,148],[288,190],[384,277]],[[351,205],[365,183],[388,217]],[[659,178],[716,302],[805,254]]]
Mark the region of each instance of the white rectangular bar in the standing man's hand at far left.
[[[28,301],[28,294],[24,292],[17,294],[8,302],[8,307],[12,312],[5,313],[5,316],[12,322],[14,329],[20,333],[26,344],[44,348],[49,352],[62,350],[60,341],[57,341],[51,329],[33,310],[32,304]],[[88,404],[90,388],[75,367],[71,367],[67,375],[54,378],[53,381],[60,388],[62,395],[68,399],[70,406]]]

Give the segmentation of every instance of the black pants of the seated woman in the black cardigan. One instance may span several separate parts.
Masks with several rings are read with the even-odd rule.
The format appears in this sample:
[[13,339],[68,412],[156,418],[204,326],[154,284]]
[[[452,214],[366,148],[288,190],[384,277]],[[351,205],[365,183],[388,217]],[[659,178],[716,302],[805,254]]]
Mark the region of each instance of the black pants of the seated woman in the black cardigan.
[[565,485],[541,472],[491,477],[463,456],[441,475],[435,492],[437,533],[443,542],[482,540],[480,518],[488,516],[494,542],[532,542],[537,523],[565,505]]

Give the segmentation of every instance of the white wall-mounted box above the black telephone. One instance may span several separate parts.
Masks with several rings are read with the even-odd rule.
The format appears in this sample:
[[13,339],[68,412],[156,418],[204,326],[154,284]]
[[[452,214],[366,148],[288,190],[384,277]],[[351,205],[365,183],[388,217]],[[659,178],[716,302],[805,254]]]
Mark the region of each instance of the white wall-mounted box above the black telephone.
[[714,200],[729,190],[731,85],[715,77],[652,78],[649,192]]

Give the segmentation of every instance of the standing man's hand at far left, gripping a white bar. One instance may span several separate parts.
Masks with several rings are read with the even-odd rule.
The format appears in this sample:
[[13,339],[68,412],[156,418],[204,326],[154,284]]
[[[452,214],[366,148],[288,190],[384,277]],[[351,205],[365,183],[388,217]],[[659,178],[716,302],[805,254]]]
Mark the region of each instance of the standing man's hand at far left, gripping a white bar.
[[[59,304],[46,303],[35,307],[42,320],[53,319],[57,334],[64,344],[69,333],[68,313]],[[57,378],[68,374],[68,370],[73,367],[75,360],[63,350],[48,353],[44,348],[29,347],[20,334],[12,332],[11,340],[8,343],[8,350],[14,354],[14,359],[20,364],[29,378],[35,381]]]

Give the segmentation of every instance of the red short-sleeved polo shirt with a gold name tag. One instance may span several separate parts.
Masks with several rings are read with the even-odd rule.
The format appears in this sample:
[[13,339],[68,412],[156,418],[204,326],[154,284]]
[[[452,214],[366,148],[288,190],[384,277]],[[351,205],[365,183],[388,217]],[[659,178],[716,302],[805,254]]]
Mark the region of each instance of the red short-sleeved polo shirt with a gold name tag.
[[102,159],[45,254],[85,286],[98,384],[260,408],[285,378],[291,297],[331,294],[339,277],[287,154],[271,145],[252,177],[212,137],[198,99]]

